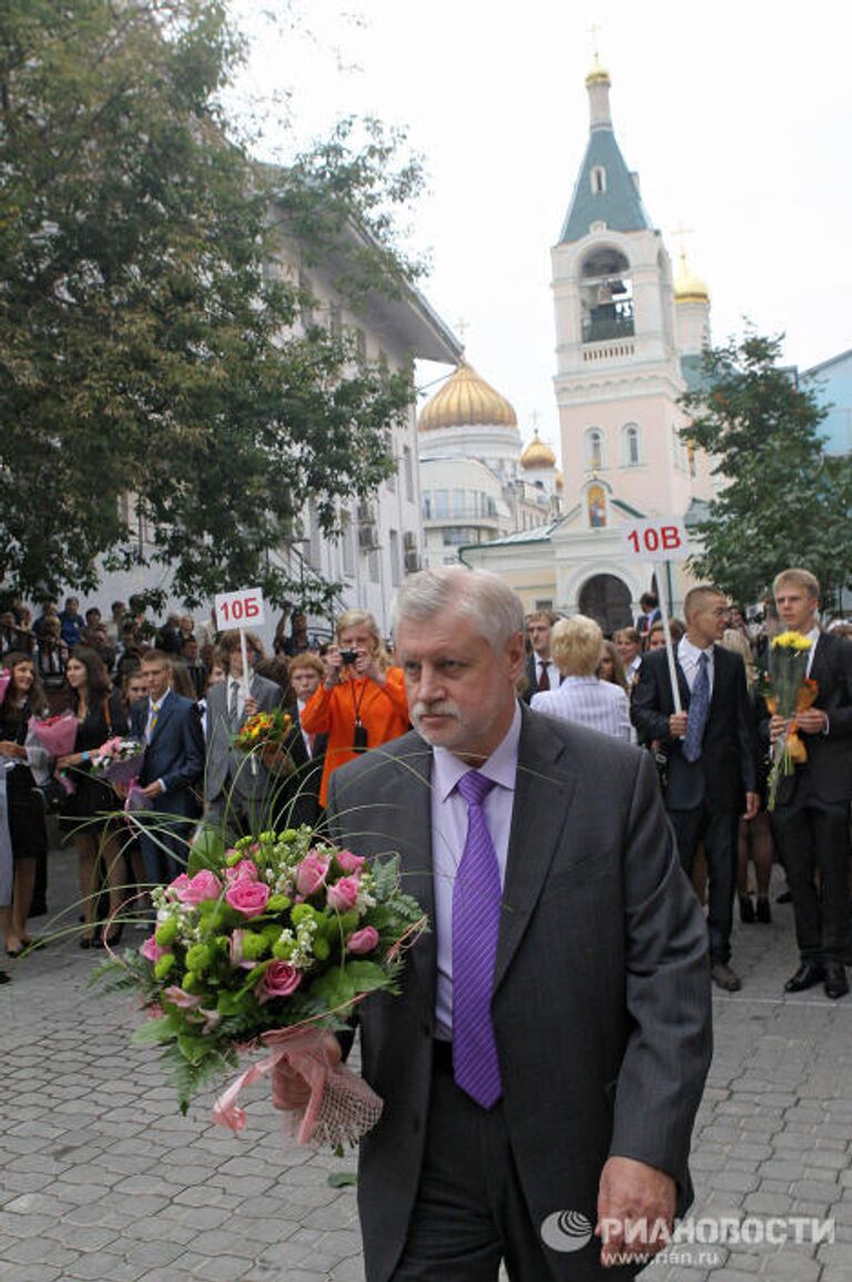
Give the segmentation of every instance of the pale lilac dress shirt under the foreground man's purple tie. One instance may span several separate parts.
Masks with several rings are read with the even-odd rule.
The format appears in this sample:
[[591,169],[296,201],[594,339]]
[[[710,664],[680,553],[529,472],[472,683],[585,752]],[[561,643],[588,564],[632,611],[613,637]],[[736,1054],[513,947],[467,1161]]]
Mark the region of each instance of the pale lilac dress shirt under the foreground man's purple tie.
[[[477,769],[497,785],[484,800],[486,823],[497,855],[500,882],[506,882],[509,829],[515,804],[520,708],[515,706],[509,731],[487,762]],[[432,759],[432,876],[434,883],[434,932],[438,946],[436,1036],[452,1037],[452,888],[468,836],[468,803],[456,783],[470,767],[446,747],[436,747]]]

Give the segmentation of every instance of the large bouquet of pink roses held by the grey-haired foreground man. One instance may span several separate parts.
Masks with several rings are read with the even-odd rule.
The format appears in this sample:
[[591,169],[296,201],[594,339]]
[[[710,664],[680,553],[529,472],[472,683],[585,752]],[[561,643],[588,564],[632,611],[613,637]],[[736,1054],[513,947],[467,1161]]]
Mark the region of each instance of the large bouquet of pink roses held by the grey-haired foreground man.
[[270,831],[229,850],[197,844],[187,873],[151,899],[154,933],[97,976],[141,996],[150,1018],[133,1041],[164,1047],[181,1111],[241,1053],[269,1046],[272,1056],[219,1099],[215,1122],[240,1129],[241,1087],[284,1060],[313,1092],[300,1142],[340,1146],[365,1133],[381,1100],[348,1069],[323,1063],[322,1042],[368,994],[395,991],[402,949],[425,926],[400,890],[398,860],[368,863],[306,826]]

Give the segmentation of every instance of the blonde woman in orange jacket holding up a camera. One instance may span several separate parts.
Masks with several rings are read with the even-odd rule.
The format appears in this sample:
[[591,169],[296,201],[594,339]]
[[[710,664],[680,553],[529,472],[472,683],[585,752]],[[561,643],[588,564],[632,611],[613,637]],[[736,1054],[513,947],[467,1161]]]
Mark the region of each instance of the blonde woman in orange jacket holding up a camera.
[[328,735],[320,805],[325,805],[332,770],[409,728],[402,669],[391,667],[373,615],[347,610],[336,636],[337,644],[324,655],[325,678],[301,714],[306,733]]

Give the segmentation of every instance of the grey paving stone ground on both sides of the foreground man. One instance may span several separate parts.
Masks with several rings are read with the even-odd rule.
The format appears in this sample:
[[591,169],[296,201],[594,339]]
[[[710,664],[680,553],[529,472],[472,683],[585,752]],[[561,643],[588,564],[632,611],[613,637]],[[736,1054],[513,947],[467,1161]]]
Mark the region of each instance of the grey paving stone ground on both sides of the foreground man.
[[[54,908],[72,865],[53,855]],[[792,912],[774,915],[737,926],[743,990],[714,997],[692,1217],[832,1217],[834,1241],[684,1244],[650,1282],[852,1278],[852,997],[782,995]],[[179,1117],[156,1054],[128,1046],[132,1004],[87,987],[97,956],[65,938],[5,963],[0,1282],[363,1282],[354,1191],[328,1183],[354,1158],[284,1144],[261,1087],[241,1137],[211,1124],[210,1096]]]

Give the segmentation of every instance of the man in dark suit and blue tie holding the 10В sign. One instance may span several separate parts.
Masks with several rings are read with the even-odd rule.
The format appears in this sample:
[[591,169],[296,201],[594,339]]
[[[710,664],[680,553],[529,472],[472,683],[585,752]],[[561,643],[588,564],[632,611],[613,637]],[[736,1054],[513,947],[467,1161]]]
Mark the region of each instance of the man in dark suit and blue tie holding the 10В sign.
[[687,633],[678,644],[676,676],[685,710],[675,712],[669,656],[662,649],[642,660],[630,715],[639,738],[657,741],[668,758],[666,810],[689,878],[698,844],[705,844],[710,973],[720,988],[735,992],[742,983],[728,963],[737,832],[741,814],[751,819],[760,808],[757,745],[743,660],[715,644],[728,624],[724,594],[709,585],[693,587],[684,614]]

